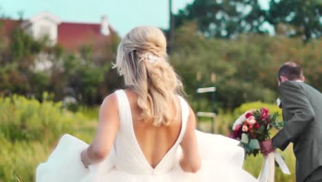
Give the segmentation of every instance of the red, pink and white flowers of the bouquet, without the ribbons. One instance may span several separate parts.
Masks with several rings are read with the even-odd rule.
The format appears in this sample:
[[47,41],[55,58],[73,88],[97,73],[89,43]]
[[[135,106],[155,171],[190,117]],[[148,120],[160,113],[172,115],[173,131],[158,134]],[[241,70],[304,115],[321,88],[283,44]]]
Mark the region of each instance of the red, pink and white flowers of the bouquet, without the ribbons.
[[259,143],[270,139],[270,130],[283,128],[283,122],[277,120],[278,116],[278,113],[269,114],[266,108],[250,110],[235,121],[230,138],[240,141],[247,155],[257,156],[260,151]]

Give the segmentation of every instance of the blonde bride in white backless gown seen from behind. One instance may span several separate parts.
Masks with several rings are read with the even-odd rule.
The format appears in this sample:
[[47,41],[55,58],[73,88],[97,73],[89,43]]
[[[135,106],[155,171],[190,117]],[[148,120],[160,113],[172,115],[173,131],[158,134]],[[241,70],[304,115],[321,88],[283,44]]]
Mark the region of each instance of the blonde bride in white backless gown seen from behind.
[[158,28],[133,28],[118,46],[115,68],[127,89],[106,97],[90,145],[65,134],[37,182],[257,181],[242,170],[238,141],[195,130],[195,114],[167,62]]

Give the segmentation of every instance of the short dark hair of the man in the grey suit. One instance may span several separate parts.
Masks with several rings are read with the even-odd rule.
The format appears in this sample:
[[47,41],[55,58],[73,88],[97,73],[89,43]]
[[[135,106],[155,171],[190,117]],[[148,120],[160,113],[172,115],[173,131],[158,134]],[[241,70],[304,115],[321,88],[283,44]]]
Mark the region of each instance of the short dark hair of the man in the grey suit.
[[278,77],[286,77],[289,80],[297,80],[303,77],[302,68],[294,62],[286,62],[279,68]]

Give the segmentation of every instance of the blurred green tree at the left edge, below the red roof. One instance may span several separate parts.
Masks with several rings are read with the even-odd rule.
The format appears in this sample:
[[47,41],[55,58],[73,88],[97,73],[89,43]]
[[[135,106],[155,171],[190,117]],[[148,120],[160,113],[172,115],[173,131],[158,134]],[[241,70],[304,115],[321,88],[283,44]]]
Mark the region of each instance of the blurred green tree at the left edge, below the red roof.
[[36,55],[45,48],[45,43],[36,41],[16,28],[10,35],[10,45],[1,48],[0,92],[6,94],[34,94],[41,98],[47,90],[48,77],[34,72]]

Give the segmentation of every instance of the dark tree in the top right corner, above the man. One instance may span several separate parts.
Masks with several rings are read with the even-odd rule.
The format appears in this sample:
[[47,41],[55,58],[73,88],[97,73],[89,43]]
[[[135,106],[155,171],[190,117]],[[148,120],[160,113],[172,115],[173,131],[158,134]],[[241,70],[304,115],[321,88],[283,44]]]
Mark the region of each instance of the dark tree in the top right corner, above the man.
[[[321,0],[271,0],[267,21],[277,30],[285,24],[286,35],[301,37],[304,41],[322,35]],[[287,26],[289,25],[289,26]]]

